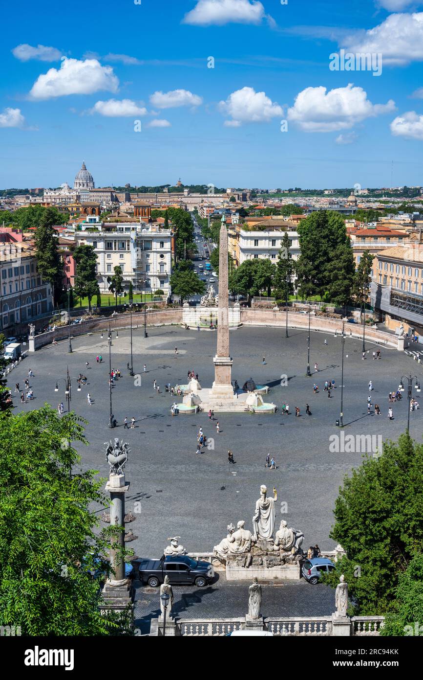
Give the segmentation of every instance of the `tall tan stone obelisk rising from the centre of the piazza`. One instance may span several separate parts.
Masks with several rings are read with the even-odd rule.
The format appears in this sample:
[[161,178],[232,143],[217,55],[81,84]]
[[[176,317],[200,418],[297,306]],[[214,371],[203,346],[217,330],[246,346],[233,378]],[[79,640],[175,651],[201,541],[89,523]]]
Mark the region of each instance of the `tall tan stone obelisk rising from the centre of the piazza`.
[[234,396],[231,382],[232,359],[229,356],[229,302],[227,267],[227,228],[223,214],[219,234],[219,307],[217,311],[217,352],[215,381],[211,389],[213,396]]

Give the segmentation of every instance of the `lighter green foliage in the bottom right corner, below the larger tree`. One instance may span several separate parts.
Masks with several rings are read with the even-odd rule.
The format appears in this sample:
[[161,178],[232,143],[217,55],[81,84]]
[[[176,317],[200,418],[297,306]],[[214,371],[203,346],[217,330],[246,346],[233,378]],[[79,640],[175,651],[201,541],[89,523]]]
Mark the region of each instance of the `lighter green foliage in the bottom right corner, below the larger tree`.
[[[388,612],[380,635],[422,635],[423,625],[423,556],[416,553],[407,569],[398,577],[395,612]],[[417,624],[417,625],[416,625]],[[416,630],[417,629],[417,630]]]

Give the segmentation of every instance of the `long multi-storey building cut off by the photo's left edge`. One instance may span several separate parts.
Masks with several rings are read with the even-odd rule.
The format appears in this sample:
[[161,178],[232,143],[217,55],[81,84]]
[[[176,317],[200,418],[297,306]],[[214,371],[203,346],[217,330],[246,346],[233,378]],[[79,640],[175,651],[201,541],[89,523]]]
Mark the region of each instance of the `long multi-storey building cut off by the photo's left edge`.
[[53,309],[52,288],[37,271],[37,255],[31,245],[0,233],[0,333],[32,322]]

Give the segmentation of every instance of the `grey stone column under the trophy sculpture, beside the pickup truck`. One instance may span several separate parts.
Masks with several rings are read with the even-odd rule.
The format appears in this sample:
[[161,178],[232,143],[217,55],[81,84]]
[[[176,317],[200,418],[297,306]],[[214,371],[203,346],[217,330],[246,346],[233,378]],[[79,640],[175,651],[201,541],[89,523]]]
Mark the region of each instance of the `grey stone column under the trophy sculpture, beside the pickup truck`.
[[[129,483],[125,481],[125,475],[109,476],[105,490],[111,498],[110,525],[125,526],[125,494],[129,489]],[[113,609],[126,609],[132,602],[131,583],[125,577],[125,562],[119,555],[119,551],[125,546],[125,529],[119,533],[119,537],[110,539],[110,563],[115,574],[111,575],[103,588],[103,600]]]

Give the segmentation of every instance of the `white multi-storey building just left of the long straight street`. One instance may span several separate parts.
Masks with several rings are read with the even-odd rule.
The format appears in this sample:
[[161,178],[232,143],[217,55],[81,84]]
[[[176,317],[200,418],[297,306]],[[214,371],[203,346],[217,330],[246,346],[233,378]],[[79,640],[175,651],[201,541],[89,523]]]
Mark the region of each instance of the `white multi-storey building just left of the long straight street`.
[[[93,218],[91,218],[92,220]],[[134,292],[163,290],[168,294],[172,273],[174,236],[161,224],[143,222],[81,223],[75,233],[77,245],[94,247],[97,256],[98,285],[109,290],[107,278],[116,266],[122,269],[124,286],[130,282]]]

